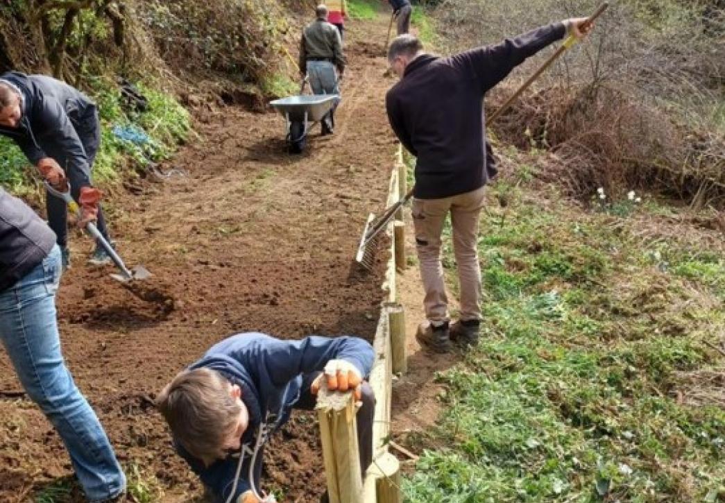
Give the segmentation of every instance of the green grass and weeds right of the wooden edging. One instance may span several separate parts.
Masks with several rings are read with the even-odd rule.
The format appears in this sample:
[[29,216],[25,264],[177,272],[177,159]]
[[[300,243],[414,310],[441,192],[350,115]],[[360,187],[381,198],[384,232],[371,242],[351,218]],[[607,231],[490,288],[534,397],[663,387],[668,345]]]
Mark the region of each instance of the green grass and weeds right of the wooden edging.
[[[526,181],[489,189],[481,343],[439,375],[446,447],[406,501],[722,501],[723,391],[701,377],[723,373],[721,249],[643,241],[644,207],[582,212]],[[450,242],[444,267],[455,293]]]

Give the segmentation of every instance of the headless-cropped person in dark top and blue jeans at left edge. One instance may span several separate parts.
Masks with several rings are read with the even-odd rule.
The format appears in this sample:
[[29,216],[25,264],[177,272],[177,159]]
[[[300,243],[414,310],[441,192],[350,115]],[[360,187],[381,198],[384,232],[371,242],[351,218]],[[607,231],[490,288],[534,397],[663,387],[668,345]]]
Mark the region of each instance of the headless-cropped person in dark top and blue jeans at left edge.
[[125,475],[63,361],[55,309],[61,273],[55,233],[0,188],[0,340],[62,438],[88,501],[114,501],[125,493]]

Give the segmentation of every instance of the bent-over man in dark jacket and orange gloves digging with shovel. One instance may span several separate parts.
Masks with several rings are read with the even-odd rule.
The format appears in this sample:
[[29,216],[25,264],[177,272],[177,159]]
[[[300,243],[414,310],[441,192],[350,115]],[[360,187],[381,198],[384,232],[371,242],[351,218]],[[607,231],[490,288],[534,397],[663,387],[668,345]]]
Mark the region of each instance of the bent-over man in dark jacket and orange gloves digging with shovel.
[[[77,89],[46,75],[0,75],[0,134],[11,138],[52,186],[63,188],[70,180],[76,201],[92,189],[101,125],[96,104]],[[63,267],[70,267],[65,201],[46,192],[46,207]],[[97,223],[101,235],[111,242],[100,207]],[[111,257],[96,244],[89,262],[104,265]]]

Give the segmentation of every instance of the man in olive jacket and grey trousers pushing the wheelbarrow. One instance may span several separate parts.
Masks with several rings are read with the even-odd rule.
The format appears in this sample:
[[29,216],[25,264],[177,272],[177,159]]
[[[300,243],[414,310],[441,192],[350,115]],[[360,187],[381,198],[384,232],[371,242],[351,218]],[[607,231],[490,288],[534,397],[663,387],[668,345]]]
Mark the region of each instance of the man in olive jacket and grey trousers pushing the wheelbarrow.
[[[299,71],[302,78],[310,80],[312,93],[339,96],[339,80],[344,74],[346,63],[340,32],[328,22],[327,7],[320,4],[315,8],[315,20],[302,30],[299,46]],[[323,135],[334,131],[338,103],[323,117]]]

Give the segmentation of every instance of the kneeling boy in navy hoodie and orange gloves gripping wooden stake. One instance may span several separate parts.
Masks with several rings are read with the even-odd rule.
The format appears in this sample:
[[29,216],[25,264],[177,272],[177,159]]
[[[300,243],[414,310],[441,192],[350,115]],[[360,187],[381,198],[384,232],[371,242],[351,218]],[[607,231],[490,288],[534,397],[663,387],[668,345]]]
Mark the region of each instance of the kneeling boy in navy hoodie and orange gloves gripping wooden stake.
[[355,390],[363,402],[357,436],[363,473],[372,461],[375,399],[363,381],[373,348],[357,337],[309,336],[282,341],[240,333],[215,344],[176,375],[157,406],[169,423],[179,454],[218,502],[265,503],[260,488],[262,451],[293,408],[312,410],[320,381]]

